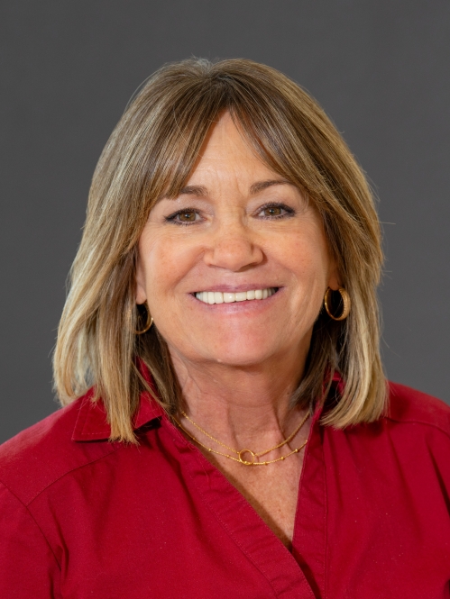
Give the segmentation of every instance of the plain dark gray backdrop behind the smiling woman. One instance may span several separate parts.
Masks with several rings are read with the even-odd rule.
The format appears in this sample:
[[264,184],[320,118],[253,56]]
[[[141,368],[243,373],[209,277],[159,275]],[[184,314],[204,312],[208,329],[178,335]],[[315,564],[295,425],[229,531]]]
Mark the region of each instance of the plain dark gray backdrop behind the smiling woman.
[[142,80],[192,55],[264,62],[324,106],[380,197],[388,375],[450,403],[448,0],[4,0],[0,44],[0,441],[57,408],[96,159]]

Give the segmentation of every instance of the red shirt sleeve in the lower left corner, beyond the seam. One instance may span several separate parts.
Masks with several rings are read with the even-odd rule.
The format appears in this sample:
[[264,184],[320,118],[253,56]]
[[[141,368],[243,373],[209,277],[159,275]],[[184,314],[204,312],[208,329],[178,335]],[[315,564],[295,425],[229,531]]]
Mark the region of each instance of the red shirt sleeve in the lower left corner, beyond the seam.
[[27,508],[0,484],[0,597],[60,599],[60,567]]

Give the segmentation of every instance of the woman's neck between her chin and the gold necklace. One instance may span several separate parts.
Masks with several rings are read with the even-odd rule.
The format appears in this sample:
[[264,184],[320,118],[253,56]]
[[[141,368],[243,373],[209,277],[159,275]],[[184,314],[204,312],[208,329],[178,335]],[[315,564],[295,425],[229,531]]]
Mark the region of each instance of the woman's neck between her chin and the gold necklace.
[[235,367],[190,362],[171,353],[185,411],[217,439],[236,448],[264,449],[294,430],[305,411],[290,398],[303,376],[306,355]]

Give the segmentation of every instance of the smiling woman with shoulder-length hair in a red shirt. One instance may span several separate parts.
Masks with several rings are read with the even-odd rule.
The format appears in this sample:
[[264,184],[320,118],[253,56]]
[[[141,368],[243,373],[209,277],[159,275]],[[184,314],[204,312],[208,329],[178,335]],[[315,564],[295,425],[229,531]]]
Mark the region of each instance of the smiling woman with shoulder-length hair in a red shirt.
[[1,449],[1,596],[450,596],[450,409],[387,386],[380,270],[305,92],[249,60],[156,73],[94,175],[66,407]]

